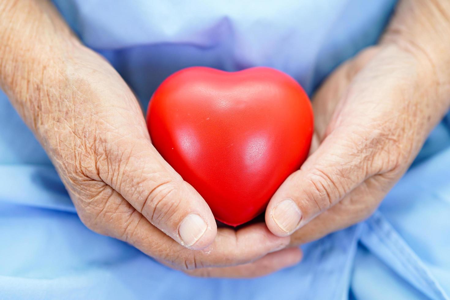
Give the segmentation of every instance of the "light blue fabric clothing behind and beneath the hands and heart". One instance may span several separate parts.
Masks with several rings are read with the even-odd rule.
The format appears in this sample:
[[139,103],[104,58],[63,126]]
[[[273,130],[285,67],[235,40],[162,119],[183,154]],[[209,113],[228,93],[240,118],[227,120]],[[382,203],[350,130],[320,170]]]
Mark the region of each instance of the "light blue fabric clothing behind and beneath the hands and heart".
[[[244,3],[245,2],[245,3]],[[374,44],[395,0],[56,0],[142,106],[170,73],[270,66],[311,94]],[[450,299],[450,116],[368,220],[302,246],[251,280],[191,278],[91,232],[45,152],[0,93],[1,299]]]

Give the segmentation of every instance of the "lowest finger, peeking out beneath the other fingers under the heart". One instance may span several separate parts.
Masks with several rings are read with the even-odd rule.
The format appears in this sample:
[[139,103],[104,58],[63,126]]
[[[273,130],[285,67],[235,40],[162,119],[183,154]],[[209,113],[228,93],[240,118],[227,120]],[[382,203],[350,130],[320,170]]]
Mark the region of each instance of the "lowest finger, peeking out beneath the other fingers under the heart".
[[302,251],[297,247],[293,247],[269,253],[261,259],[248,264],[224,268],[196,269],[185,272],[197,277],[255,278],[296,265],[301,259]]

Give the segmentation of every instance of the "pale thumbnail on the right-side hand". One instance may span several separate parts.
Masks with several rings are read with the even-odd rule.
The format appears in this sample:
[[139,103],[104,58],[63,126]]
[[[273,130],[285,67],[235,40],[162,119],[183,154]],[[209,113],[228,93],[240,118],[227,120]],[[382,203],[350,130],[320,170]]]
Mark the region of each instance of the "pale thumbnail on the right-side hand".
[[272,219],[285,233],[293,233],[300,224],[302,212],[291,199],[281,201],[272,209]]

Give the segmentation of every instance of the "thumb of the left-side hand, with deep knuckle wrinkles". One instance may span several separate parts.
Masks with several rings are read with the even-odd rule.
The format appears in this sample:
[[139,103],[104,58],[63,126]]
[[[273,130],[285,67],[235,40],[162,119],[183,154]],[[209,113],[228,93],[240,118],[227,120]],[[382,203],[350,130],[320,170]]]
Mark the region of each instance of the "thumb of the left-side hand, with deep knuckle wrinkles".
[[191,249],[210,245],[216,236],[211,209],[153,148],[148,137],[109,138],[106,167],[99,177],[148,221]]

